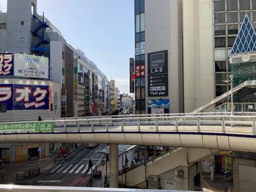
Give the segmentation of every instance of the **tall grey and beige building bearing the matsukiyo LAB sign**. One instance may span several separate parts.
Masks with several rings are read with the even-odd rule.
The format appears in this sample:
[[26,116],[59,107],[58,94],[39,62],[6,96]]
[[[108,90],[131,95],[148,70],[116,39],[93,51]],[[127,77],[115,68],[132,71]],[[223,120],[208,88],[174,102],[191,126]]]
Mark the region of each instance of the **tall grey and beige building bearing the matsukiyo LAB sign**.
[[134,0],[137,114],[190,112],[228,91],[246,13],[256,28],[254,0]]

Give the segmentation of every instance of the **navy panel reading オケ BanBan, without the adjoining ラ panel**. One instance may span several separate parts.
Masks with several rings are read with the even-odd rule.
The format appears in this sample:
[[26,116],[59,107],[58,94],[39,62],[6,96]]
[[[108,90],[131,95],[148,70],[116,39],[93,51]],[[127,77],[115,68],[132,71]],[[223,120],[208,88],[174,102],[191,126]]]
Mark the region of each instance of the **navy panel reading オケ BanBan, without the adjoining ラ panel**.
[[49,86],[14,85],[14,110],[49,109]]

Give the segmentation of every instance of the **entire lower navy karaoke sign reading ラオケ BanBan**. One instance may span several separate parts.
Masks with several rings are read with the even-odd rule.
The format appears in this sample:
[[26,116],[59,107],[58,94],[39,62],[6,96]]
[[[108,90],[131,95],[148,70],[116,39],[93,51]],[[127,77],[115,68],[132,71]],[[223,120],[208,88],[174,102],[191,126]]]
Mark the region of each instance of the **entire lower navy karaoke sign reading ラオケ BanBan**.
[[0,104],[7,110],[49,109],[49,86],[0,85]]

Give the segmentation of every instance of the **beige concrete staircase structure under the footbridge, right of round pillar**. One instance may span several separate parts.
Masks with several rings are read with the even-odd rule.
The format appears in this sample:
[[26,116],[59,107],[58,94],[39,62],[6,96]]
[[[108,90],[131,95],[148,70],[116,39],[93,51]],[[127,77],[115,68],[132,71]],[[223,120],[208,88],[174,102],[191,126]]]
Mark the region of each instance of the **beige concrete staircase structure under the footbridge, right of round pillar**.
[[175,183],[176,189],[184,189],[184,186],[194,188],[194,183],[189,183],[188,178],[194,178],[198,173],[200,174],[201,165],[198,162],[216,152],[218,150],[179,147],[145,165],[119,175],[119,183],[126,180],[127,186],[145,188],[146,178],[154,175],[159,179],[161,188],[165,186],[166,178],[173,178],[172,182]]

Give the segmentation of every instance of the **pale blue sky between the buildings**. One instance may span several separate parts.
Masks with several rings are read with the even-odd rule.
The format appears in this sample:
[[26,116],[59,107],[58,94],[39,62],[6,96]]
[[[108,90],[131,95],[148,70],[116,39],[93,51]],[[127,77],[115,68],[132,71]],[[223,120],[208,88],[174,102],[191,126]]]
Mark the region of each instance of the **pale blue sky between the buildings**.
[[[6,9],[6,0],[0,0]],[[18,0],[17,0],[18,1]],[[134,1],[37,0],[37,13],[65,40],[83,50],[120,93],[129,93],[129,58],[134,58]]]

